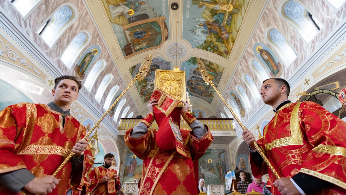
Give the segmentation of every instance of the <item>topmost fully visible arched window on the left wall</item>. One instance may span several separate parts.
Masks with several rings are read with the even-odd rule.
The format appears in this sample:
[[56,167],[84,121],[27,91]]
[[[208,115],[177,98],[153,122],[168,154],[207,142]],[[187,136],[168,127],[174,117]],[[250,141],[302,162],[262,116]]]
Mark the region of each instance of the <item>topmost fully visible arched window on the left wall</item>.
[[60,39],[64,32],[78,18],[78,11],[74,5],[65,3],[37,31],[50,49]]

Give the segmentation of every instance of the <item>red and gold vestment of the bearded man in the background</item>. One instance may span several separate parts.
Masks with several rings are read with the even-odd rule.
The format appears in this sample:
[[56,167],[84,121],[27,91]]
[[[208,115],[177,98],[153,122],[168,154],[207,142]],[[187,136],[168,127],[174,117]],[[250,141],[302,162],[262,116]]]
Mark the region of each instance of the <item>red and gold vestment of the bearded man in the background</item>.
[[117,171],[112,168],[105,168],[103,166],[96,167],[89,173],[89,191],[92,195],[114,195],[117,193],[117,190],[120,188],[120,179],[117,181],[115,179],[111,179],[108,182],[100,183],[100,180],[108,176],[109,178],[113,178],[114,174],[117,174]]

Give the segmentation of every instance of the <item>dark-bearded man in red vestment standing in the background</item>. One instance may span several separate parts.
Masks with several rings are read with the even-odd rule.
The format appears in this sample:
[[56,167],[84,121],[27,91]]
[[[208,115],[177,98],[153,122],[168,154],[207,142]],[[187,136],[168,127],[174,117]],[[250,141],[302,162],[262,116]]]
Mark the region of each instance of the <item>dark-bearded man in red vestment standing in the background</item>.
[[89,173],[89,191],[92,195],[115,195],[120,190],[121,184],[117,171],[110,168],[114,155],[104,155],[104,163]]

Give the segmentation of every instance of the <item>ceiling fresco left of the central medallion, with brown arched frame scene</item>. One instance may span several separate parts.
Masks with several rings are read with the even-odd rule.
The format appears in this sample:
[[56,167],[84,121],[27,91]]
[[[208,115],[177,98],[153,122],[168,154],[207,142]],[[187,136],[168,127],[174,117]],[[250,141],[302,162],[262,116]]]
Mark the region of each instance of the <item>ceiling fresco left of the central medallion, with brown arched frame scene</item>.
[[168,4],[142,0],[103,0],[111,27],[125,59],[160,48],[169,38]]

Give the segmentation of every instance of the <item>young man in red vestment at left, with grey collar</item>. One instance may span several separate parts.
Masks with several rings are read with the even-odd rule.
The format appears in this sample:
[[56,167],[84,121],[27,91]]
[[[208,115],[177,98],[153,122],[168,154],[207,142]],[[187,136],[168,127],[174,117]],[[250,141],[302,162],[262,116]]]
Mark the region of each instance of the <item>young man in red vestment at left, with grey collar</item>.
[[[93,164],[84,126],[70,115],[82,87],[74,76],[55,79],[49,104],[18,103],[0,112],[0,194],[66,194],[82,190]],[[53,173],[70,152],[75,154]]]

